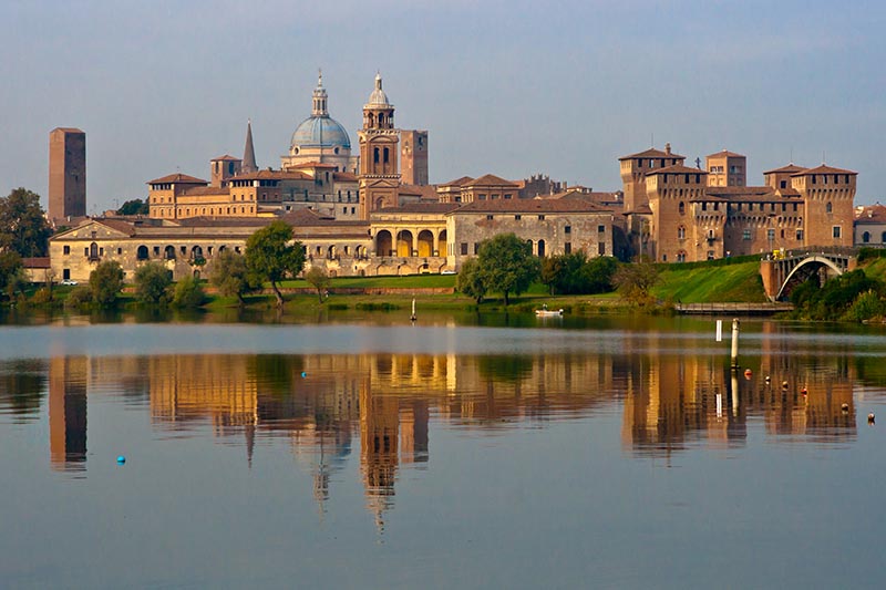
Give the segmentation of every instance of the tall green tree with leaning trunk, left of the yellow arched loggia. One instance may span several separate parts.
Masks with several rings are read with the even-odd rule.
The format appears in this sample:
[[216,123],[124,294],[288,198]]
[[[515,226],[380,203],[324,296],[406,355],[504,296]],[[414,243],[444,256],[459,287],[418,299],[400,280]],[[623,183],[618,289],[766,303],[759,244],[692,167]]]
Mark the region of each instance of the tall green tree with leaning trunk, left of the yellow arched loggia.
[[305,248],[292,241],[292,227],[277,220],[249,236],[246,240],[246,267],[262,282],[270,282],[277,304],[282,307],[284,296],[279,282],[295,277],[305,267]]

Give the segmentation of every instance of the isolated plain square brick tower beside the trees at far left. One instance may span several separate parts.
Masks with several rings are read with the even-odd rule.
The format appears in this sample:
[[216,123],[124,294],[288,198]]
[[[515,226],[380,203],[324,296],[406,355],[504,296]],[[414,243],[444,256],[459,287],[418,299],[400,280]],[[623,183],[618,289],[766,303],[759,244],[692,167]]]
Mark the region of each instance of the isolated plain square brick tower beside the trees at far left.
[[86,215],[86,134],[56,127],[49,134],[49,218]]

